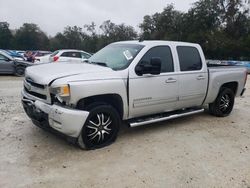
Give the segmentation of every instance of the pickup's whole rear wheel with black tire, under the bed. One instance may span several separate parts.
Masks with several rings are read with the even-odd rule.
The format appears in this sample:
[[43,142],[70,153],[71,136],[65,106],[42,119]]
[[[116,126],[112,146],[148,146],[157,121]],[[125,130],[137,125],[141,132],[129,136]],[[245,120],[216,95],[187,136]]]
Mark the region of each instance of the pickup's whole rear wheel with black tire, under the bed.
[[234,92],[229,88],[221,88],[217,98],[209,104],[210,114],[217,117],[228,116],[234,107]]

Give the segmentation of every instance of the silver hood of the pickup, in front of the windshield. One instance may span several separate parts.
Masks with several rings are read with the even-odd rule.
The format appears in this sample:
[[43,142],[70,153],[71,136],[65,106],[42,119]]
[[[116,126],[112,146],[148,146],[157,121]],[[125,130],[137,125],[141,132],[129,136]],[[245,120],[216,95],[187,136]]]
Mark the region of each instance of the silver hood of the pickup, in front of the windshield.
[[49,85],[59,78],[66,78],[75,75],[105,74],[113,70],[108,67],[88,63],[48,63],[28,67],[25,77],[42,85]]

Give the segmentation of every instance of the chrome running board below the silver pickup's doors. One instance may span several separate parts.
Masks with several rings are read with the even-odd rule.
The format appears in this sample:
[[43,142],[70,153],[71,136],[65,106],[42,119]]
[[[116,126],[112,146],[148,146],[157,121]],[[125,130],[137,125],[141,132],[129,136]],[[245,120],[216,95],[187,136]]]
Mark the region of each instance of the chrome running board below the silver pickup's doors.
[[178,117],[184,117],[184,116],[189,116],[193,114],[198,114],[204,112],[204,109],[189,109],[189,110],[183,110],[179,111],[178,113],[175,114],[165,114],[165,115],[158,115],[155,117],[148,117],[145,119],[139,118],[139,119],[134,119],[133,121],[129,122],[130,127],[138,127],[141,125],[147,125],[151,123],[157,123],[165,120],[170,120],[170,119],[175,119]]

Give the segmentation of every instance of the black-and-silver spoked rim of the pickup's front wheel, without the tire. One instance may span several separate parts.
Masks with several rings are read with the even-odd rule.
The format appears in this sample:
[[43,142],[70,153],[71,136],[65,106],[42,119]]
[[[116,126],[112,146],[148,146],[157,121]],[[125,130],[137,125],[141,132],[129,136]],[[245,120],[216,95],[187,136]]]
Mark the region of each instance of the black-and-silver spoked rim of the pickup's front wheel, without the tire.
[[98,113],[88,120],[86,136],[90,143],[101,145],[113,136],[113,121],[110,115]]

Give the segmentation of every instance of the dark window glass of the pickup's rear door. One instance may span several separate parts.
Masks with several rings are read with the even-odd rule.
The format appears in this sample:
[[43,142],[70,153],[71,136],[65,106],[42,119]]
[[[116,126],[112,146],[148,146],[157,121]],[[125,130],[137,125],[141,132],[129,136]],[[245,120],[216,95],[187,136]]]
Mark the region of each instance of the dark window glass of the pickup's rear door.
[[189,46],[178,46],[177,52],[181,71],[201,70],[201,57],[199,51],[196,48]]

